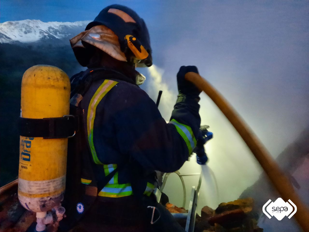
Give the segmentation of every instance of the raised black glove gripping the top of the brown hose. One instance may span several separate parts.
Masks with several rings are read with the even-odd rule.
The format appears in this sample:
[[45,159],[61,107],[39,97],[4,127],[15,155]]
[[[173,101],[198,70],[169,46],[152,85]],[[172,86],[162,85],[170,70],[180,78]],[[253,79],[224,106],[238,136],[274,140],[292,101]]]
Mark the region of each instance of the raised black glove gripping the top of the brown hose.
[[198,95],[201,91],[190,81],[184,79],[184,75],[187,72],[195,72],[198,74],[196,66],[181,66],[177,73],[177,85],[180,96],[190,96],[193,98],[199,98]]

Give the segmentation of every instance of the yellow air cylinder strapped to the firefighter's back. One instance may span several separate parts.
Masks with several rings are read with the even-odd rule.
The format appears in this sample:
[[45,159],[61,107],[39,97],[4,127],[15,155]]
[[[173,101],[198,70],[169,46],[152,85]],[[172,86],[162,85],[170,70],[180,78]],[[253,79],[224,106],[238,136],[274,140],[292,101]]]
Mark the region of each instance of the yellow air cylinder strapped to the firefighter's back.
[[[21,117],[62,117],[69,114],[69,102],[70,79],[61,69],[36,65],[23,74]],[[67,144],[67,138],[20,136],[18,198],[24,208],[40,213],[59,205],[66,184]]]

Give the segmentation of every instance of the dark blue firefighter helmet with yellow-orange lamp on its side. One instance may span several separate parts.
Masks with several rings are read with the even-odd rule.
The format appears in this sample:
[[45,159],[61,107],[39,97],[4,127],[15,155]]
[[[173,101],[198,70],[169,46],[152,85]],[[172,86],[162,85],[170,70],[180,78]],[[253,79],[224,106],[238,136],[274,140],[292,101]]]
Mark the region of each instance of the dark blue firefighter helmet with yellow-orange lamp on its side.
[[149,32],[144,20],[135,11],[118,4],[107,6],[85,30],[97,25],[108,27],[118,36],[121,51],[128,62],[147,67],[152,65]]

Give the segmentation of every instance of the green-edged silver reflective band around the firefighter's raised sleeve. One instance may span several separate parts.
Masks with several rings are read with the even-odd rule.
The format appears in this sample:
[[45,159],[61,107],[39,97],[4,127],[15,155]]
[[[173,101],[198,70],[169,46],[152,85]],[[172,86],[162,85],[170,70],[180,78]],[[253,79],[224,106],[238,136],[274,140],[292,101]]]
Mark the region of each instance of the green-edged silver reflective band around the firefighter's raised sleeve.
[[189,155],[191,155],[197,143],[193,135],[193,131],[191,127],[185,124],[182,124],[180,122],[177,122],[175,119],[172,119],[169,123],[174,124],[177,132],[181,135],[181,137],[184,139],[185,143],[187,144]]

